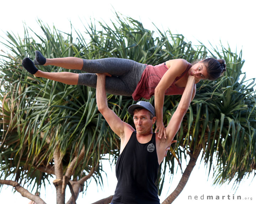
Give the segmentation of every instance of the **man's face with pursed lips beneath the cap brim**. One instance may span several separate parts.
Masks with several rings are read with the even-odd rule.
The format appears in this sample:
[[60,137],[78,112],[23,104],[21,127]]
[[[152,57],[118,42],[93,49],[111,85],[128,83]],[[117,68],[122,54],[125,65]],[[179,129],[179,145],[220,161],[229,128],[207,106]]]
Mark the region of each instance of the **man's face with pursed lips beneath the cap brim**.
[[151,132],[152,125],[155,123],[156,117],[150,119],[150,112],[146,109],[134,111],[133,122],[138,134],[147,134]]

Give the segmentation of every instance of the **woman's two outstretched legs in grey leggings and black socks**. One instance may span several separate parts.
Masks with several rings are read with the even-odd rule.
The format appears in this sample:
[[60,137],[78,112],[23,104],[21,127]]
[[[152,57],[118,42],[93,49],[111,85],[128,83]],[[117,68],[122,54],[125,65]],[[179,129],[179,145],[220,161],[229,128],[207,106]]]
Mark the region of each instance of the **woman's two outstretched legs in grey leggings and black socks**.
[[70,72],[49,73],[37,70],[35,73],[32,73],[36,77],[44,77],[70,85],[78,84],[96,87],[97,78],[92,77],[89,73],[109,73],[112,75],[112,80],[106,79],[106,89],[108,87],[107,92],[124,96],[132,95],[144,69],[146,68],[145,64],[122,58],[83,60],[76,57],[66,57],[46,59],[39,51],[36,51],[36,59],[34,60],[34,63],[29,58],[27,61],[30,62],[27,64],[22,62],[22,64],[28,71],[31,69],[30,67],[37,70],[34,66],[35,63],[60,66],[68,69],[81,69],[82,71],[88,72],[84,74]]

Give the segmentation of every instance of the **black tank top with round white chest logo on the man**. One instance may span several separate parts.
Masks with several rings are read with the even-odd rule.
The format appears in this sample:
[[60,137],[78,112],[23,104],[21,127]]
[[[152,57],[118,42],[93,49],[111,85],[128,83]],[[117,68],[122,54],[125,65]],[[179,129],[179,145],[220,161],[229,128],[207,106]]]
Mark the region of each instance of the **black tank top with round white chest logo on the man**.
[[158,157],[155,133],[148,143],[141,144],[132,133],[116,164],[117,187],[113,204],[160,204],[155,181]]

